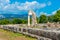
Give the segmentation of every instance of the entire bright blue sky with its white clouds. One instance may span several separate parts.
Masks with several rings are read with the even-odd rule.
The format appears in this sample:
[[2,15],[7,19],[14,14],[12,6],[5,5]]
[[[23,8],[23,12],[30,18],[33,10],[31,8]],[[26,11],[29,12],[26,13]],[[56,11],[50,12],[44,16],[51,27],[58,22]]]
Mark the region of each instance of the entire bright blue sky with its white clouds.
[[0,14],[27,14],[32,9],[36,15],[53,15],[60,9],[60,0],[0,0]]

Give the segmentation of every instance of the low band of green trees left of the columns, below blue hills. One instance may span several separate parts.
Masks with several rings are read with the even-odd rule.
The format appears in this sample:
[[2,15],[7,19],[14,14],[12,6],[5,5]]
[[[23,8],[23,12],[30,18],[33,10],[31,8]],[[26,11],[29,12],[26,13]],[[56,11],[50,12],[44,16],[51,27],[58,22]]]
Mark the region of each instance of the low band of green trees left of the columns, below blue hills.
[[0,24],[26,24],[26,23],[27,23],[27,20],[22,20],[18,18],[14,18],[12,20],[8,20],[8,19],[0,20]]

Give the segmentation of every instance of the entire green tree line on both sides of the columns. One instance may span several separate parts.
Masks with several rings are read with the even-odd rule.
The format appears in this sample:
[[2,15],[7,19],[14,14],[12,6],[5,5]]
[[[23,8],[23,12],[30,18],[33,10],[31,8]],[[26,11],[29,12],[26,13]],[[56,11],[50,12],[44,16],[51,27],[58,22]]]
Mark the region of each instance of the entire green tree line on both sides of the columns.
[[[32,20],[30,20],[32,21]],[[38,23],[47,23],[47,22],[59,22],[60,23],[60,10],[58,10],[54,15],[46,16],[44,14],[37,17]],[[2,19],[0,20],[0,24],[27,24],[28,20],[23,20],[19,18],[14,18],[12,20]]]

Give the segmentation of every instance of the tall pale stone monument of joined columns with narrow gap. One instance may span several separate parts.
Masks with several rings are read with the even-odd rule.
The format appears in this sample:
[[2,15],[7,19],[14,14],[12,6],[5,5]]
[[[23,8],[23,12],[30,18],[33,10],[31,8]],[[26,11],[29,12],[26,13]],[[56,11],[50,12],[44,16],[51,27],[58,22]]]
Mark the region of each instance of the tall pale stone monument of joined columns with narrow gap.
[[[32,16],[32,24],[30,24],[30,16]],[[28,26],[35,26],[37,24],[37,20],[36,20],[36,14],[34,11],[29,10],[28,13]]]

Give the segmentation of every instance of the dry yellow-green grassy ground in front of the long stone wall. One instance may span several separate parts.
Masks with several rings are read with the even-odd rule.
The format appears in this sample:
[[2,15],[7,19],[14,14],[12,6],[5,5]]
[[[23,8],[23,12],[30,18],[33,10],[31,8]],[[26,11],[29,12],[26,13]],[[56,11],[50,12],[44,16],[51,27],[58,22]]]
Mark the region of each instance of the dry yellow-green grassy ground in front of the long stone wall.
[[10,31],[0,29],[0,40],[36,40],[20,33],[13,33]]

